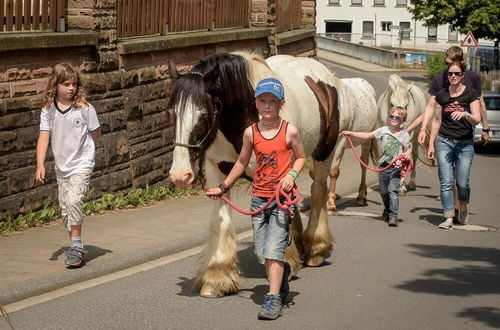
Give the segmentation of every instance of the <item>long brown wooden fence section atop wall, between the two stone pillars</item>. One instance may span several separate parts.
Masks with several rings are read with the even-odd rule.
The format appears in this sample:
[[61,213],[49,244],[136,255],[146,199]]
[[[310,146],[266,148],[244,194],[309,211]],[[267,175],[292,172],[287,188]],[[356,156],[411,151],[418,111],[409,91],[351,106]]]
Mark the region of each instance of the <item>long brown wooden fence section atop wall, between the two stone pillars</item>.
[[246,27],[250,1],[118,0],[118,37]]

